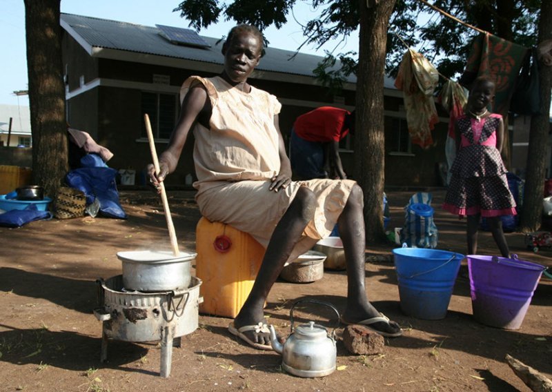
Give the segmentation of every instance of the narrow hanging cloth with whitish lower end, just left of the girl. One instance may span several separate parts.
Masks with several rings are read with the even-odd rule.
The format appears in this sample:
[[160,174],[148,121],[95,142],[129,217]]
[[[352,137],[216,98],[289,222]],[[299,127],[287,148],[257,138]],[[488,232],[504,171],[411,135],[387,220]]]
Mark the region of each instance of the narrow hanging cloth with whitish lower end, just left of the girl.
[[[449,112],[449,133],[446,137],[444,153],[448,169],[451,168],[454,159],[456,158],[456,135],[454,124],[456,119],[464,114],[464,106],[468,101],[466,91],[459,83],[452,80],[447,80],[443,84],[443,88],[439,92],[437,102],[439,102],[445,110]],[[446,172],[446,184],[451,182],[451,172]]]

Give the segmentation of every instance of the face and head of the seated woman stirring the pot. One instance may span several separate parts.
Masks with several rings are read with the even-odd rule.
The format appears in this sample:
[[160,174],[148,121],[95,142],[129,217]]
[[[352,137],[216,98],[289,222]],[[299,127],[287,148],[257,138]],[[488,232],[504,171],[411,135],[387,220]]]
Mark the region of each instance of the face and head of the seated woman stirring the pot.
[[224,72],[235,83],[243,83],[261,59],[262,42],[252,32],[238,32],[224,51]]

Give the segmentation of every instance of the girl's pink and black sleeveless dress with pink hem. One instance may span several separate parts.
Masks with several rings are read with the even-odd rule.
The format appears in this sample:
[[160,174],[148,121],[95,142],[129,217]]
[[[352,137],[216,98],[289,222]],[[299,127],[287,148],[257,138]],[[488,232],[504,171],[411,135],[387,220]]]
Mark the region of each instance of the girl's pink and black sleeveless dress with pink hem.
[[460,150],[451,167],[451,184],[443,208],[455,215],[497,217],[515,215],[515,201],[508,187],[506,167],[496,148],[501,115],[457,119]]

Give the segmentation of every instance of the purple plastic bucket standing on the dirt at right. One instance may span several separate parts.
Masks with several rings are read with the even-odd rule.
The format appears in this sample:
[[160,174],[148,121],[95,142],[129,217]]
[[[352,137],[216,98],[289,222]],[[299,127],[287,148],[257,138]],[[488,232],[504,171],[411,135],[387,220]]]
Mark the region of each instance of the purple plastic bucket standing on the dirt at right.
[[468,255],[471,306],[478,322],[520,329],[544,266],[507,257]]

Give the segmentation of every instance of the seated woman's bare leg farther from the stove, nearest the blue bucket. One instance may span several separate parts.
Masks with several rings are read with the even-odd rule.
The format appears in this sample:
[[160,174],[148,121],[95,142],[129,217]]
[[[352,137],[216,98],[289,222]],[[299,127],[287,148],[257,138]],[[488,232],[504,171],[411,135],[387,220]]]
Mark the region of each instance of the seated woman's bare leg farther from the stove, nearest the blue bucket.
[[[366,235],[364,228],[364,196],[362,189],[355,185],[343,213],[339,216],[339,236],[343,241],[347,265],[347,306],[343,320],[348,323],[380,316],[366,295]],[[400,326],[395,322],[377,322],[373,329],[388,333],[397,333]]]

